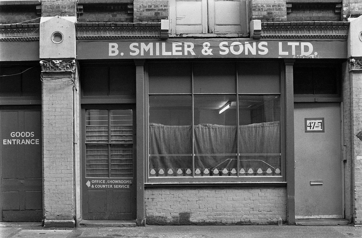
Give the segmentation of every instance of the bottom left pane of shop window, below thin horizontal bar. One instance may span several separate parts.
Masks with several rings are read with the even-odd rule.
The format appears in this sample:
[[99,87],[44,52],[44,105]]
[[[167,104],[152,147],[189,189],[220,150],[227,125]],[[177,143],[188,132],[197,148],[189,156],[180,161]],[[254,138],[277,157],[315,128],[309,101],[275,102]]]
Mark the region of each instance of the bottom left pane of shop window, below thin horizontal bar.
[[192,176],[191,155],[151,155],[149,176]]

